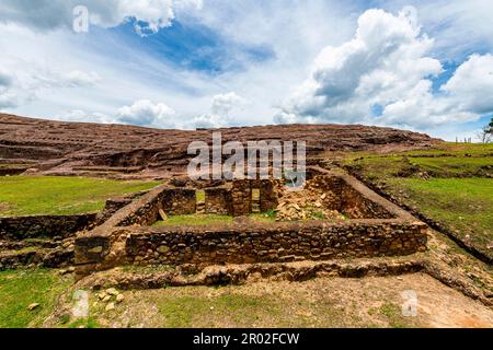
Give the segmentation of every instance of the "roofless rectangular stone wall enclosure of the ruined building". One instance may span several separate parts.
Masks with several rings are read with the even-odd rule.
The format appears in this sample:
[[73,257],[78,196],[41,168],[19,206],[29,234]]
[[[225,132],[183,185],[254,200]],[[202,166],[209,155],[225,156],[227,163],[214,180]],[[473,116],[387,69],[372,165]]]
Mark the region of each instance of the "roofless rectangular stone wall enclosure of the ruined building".
[[[324,175],[314,175],[310,186],[323,194],[323,206],[349,220],[151,228],[160,209],[168,213],[196,209],[194,189],[160,186],[76,240],[78,276],[121,265],[323,260],[410,255],[426,248],[425,224],[353,177],[320,172]],[[206,212],[251,213],[252,188],[262,192],[262,211],[276,207],[275,183],[237,180],[230,190],[205,189]]]

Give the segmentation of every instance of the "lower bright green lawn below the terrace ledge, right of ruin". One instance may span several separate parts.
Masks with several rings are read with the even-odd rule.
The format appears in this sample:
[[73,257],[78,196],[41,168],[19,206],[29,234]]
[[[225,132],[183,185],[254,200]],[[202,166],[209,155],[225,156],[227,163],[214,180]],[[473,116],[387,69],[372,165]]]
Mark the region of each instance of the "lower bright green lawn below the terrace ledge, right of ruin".
[[393,178],[394,191],[403,190],[409,201],[427,217],[442,222],[486,250],[493,244],[492,178]]

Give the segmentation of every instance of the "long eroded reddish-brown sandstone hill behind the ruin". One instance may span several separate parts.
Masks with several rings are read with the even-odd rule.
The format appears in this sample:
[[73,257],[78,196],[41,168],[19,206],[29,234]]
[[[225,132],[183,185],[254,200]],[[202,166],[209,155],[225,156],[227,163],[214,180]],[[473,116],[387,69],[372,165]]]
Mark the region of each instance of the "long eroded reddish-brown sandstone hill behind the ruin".
[[[389,128],[287,125],[227,128],[230,140],[305,140],[308,156],[325,151],[427,147],[426,135]],[[0,114],[3,174],[169,176],[188,164],[192,141],[211,143],[213,130],[159,130],[135,126],[62,122]]]

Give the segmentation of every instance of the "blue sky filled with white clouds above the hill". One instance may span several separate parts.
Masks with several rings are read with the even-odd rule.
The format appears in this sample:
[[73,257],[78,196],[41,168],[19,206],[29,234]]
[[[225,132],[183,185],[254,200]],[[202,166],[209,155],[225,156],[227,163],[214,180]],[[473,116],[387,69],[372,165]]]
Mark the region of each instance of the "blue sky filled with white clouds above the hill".
[[473,137],[493,115],[491,13],[491,0],[2,0],[0,110]]

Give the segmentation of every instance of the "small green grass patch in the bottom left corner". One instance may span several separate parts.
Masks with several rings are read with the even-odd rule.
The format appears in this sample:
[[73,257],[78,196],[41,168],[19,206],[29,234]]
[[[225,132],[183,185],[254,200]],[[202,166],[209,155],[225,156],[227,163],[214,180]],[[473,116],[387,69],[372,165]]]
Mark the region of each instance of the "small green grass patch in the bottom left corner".
[[[71,281],[55,270],[0,272],[0,328],[36,327],[51,314],[57,296]],[[34,311],[27,307],[37,303]]]

